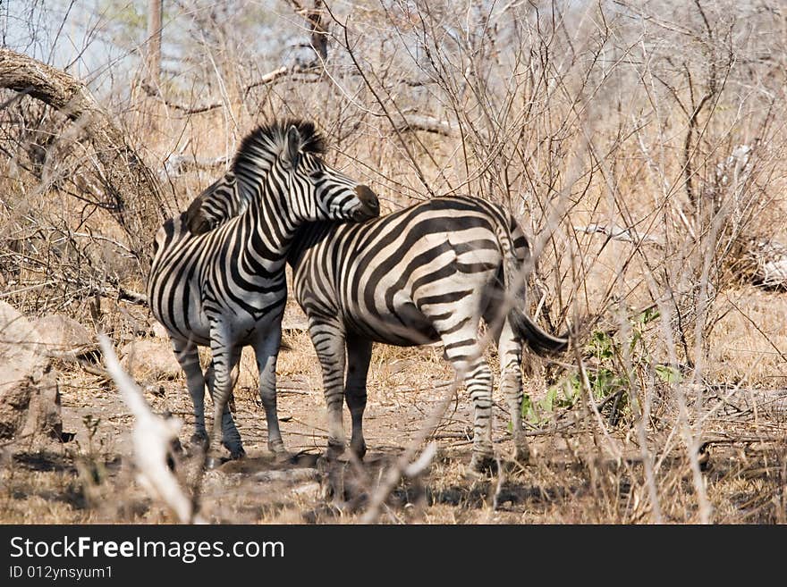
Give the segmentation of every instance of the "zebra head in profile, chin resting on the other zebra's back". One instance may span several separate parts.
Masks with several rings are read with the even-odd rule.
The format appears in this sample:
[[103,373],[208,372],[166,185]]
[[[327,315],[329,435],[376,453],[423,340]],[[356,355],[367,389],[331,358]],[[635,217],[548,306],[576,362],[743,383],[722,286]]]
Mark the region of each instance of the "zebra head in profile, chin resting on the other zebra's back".
[[326,164],[325,141],[310,122],[293,122],[278,164],[287,178],[289,207],[302,222],[364,221],[380,214],[375,193]]

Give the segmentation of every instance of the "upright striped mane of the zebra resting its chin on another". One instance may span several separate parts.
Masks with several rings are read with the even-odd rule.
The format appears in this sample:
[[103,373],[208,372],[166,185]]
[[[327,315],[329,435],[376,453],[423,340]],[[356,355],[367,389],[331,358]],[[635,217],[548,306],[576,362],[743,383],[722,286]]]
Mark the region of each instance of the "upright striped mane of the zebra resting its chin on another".
[[303,153],[325,154],[326,139],[314,122],[299,119],[276,121],[258,126],[241,140],[241,147],[238,147],[233,160],[233,171],[237,172],[243,167],[258,168],[260,157],[275,159],[286,145],[287,130],[291,126],[298,129],[300,150]]

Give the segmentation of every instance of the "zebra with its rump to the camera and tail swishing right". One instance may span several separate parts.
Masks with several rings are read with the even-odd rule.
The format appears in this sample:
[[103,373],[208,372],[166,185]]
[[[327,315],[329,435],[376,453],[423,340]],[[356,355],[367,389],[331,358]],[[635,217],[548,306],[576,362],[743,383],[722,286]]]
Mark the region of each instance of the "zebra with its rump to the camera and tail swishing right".
[[[514,458],[529,459],[521,423],[523,342],[539,354],[562,351],[566,335],[542,330],[526,312],[523,266],[528,239],[512,214],[475,197],[436,197],[374,220],[301,227],[289,256],[294,296],[309,320],[323,372],[331,460],[345,448],[343,401],[351,414],[352,453],[366,454],[363,413],[373,342],[442,342],[474,407],[470,469],[494,459],[493,376],[479,348],[481,318],[493,331],[501,388],[512,420]],[[499,308],[510,292],[516,304]]]

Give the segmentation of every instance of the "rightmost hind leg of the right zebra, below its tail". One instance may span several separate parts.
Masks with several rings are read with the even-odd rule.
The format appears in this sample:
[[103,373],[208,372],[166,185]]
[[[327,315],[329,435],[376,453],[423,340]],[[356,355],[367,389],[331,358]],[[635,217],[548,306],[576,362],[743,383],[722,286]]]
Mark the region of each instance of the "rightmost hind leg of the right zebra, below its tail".
[[514,460],[526,465],[530,457],[528,440],[522,430],[522,341],[506,319],[497,342],[500,356],[500,389],[504,393],[511,415]]

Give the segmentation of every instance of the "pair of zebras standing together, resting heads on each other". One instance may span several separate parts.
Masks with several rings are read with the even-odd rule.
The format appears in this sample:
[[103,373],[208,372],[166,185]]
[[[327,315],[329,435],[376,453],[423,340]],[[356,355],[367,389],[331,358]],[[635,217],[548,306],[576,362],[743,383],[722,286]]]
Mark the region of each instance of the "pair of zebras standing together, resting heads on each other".
[[[529,457],[522,426],[522,344],[553,352],[567,340],[526,314],[522,267],[528,240],[512,215],[473,197],[436,197],[383,217],[377,196],[323,160],[314,124],[274,122],[241,142],[231,170],[156,237],[148,299],[172,340],[193,401],[195,438],[210,448],[205,386],[232,457],[244,454],[227,400],[241,348],[251,345],[259,370],[268,449],[286,455],[276,415],[276,357],[287,298],[284,264],[309,319],[322,366],[329,438],[327,457],[345,447],[343,401],[351,412],[352,452],[363,457],[363,412],[372,343],[440,341],[461,373],[474,407],[471,468],[494,457],[493,376],[480,348],[481,318],[491,327],[512,419],[514,457]],[[501,314],[507,296],[516,299]],[[209,346],[205,373],[198,346]]]

